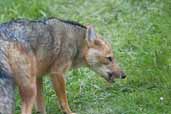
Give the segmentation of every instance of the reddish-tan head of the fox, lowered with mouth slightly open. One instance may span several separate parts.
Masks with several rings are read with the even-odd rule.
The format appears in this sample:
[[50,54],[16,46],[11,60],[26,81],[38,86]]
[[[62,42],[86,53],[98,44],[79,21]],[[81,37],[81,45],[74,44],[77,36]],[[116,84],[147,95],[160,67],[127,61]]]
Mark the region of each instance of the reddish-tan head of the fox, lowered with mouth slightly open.
[[108,82],[115,78],[125,78],[125,73],[116,64],[111,46],[96,35],[93,26],[87,26],[86,32],[87,49],[85,61],[90,69],[101,75]]

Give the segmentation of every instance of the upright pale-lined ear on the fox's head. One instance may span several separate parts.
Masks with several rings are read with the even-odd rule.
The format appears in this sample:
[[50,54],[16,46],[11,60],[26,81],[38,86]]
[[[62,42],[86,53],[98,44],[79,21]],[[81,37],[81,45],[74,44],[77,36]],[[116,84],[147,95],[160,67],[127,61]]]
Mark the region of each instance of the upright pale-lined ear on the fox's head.
[[96,39],[96,31],[92,25],[87,26],[86,40],[89,43],[93,43]]

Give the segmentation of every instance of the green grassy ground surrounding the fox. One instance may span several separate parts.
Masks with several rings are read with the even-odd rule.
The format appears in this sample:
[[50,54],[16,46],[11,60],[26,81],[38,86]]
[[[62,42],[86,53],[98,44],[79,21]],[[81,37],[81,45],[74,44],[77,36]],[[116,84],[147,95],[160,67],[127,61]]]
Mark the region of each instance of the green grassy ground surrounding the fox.
[[[73,111],[171,114],[170,0],[0,0],[0,22],[51,16],[95,25],[128,75],[109,85],[88,69],[67,73]],[[48,114],[61,114],[49,79],[44,82]]]

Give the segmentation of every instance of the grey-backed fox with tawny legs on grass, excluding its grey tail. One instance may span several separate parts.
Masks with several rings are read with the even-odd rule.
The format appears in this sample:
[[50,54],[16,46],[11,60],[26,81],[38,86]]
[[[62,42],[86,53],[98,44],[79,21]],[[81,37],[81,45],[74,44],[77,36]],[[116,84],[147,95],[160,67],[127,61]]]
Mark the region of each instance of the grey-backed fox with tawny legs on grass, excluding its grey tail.
[[22,114],[32,114],[35,101],[38,112],[46,114],[42,96],[42,76],[46,73],[51,74],[65,114],[74,114],[64,80],[70,68],[87,66],[109,82],[126,77],[116,65],[111,47],[91,25],[55,18],[11,21],[0,25],[0,48],[4,57],[0,63],[19,87]]

